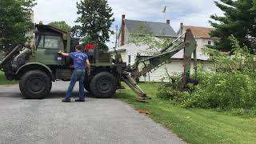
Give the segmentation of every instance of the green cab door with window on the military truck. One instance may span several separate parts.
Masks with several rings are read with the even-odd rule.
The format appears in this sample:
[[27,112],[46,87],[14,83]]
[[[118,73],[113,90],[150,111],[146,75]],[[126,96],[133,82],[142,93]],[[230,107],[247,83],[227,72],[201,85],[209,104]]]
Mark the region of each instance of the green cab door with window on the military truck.
[[58,54],[60,50],[64,50],[61,36],[42,35],[35,52],[35,59],[46,65],[63,65],[65,58]]

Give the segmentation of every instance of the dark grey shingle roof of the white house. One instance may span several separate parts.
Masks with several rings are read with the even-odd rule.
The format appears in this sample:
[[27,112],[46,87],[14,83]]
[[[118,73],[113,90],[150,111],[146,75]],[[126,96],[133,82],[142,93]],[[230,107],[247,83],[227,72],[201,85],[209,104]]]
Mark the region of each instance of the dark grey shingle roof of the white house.
[[126,27],[130,33],[137,33],[138,26],[148,26],[155,36],[177,36],[174,29],[164,22],[145,22],[135,20],[125,20]]

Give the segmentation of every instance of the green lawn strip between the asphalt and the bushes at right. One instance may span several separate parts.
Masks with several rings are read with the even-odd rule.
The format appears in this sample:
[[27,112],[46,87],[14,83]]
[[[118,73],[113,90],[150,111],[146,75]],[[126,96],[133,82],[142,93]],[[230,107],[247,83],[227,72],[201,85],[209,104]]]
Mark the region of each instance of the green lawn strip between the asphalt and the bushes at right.
[[[223,114],[216,110],[184,109],[156,98],[157,85],[140,83],[152,98],[146,103],[136,102],[129,88],[120,90],[116,97],[135,109],[151,110],[149,117],[190,143],[256,143],[256,118]],[[126,86],[127,87],[127,86]]]

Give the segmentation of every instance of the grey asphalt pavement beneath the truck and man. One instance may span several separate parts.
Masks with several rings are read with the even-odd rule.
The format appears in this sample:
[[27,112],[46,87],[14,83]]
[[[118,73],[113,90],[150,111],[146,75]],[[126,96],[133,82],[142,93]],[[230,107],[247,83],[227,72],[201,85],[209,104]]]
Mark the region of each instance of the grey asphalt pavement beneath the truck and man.
[[43,100],[22,99],[18,86],[0,86],[0,143],[184,143],[114,98],[62,103],[67,86],[55,82]]

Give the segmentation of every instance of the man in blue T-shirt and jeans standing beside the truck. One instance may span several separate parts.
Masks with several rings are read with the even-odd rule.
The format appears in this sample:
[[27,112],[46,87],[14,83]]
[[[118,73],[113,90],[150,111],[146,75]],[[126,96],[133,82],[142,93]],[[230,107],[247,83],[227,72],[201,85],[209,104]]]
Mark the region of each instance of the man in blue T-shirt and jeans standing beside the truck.
[[70,54],[59,52],[59,54],[63,56],[72,58],[74,62],[74,72],[70,79],[70,86],[66,92],[66,98],[62,99],[62,102],[71,102],[71,94],[77,81],[79,81],[79,98],[76,99],[75,102],[85,102],[84,79],[86,67],[87,75],[90,75],[90,62],[88,56],[82,53],[82,46],[76,46],[75,50],[76,52]]

